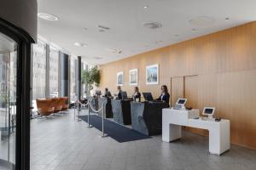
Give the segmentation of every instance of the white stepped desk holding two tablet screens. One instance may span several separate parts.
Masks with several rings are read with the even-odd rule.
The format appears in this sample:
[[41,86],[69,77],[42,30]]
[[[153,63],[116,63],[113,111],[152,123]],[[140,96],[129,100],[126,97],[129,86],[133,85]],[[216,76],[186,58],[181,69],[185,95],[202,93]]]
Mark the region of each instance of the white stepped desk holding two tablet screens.
[[182,137],[181,126],[196,127],[209,131],[209,152],[221,155],[230,150],[230,121],[222,119],[214,120],[195,119],[199,117],[199,110],[174,110],[163,109],[162,116],[162,140],[171,142]]

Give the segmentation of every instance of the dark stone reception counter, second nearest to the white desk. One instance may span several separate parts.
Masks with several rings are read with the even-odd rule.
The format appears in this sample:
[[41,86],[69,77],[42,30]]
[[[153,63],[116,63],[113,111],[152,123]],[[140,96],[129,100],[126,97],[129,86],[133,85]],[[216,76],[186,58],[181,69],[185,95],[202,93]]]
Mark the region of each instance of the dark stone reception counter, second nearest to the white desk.
[[131,99],[111,99],[113,122],[121,125],[131,124]]

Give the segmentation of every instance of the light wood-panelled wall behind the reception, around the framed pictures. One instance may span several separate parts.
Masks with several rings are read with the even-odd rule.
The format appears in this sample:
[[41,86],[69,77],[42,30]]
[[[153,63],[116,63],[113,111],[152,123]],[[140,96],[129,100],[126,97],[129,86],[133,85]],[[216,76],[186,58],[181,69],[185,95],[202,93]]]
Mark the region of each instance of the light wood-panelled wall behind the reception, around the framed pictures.
[[[252,22],[100,65],[100,88],[114,94],[116,73],[124,71],[123,89],[131,95],[129,70],[138,68],[138,87],[156,98],[161,85],[171,87],[171,77],[198,75],[198,107],[215,106],[218,116],[231,120],[231,142],[256,149],[255,46],[256,22]],[[160,65],[160,84],[146,85],[145,68],[153,64]]]

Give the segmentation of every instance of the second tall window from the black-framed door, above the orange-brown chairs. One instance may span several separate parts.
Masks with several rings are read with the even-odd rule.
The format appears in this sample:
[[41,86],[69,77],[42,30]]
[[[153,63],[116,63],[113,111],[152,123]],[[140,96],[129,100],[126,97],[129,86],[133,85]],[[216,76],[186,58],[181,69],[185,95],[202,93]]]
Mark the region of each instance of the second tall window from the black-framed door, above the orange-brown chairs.
[[49,97],[58,97],[59,51],[49,47]]

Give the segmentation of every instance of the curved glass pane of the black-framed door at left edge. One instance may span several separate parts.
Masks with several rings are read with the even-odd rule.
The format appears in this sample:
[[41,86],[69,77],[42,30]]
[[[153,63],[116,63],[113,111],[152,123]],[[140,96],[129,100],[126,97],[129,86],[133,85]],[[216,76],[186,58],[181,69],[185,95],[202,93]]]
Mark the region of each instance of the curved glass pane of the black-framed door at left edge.
[[0,32],[0,169],[15,169],[17,43]]

